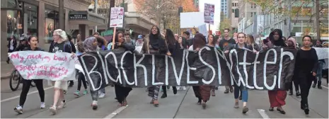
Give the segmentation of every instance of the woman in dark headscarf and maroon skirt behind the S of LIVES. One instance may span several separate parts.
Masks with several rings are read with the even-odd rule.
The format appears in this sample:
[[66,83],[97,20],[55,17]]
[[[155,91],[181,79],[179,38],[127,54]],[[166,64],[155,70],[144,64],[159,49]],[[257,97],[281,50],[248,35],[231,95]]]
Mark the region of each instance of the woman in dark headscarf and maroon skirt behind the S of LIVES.
[[[201,33],[195,35],[193,45],[190,46],[189,50],[199,51],[202,47],[206,46],[206,38]],[[210,99],[210,91],[212,86],[192,86],[195,96],[198,98],[197,104],[202,105],[202,108],[206,108],[206,103]]]

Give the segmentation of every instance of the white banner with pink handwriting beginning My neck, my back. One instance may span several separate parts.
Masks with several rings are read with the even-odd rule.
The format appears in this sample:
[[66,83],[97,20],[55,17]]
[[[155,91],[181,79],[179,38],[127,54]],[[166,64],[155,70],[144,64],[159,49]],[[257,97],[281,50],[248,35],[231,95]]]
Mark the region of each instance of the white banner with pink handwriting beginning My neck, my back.
[[74,80],[74,67],[80,65],[78,57],[67,52],[20,51],[8,57],[23,79]]

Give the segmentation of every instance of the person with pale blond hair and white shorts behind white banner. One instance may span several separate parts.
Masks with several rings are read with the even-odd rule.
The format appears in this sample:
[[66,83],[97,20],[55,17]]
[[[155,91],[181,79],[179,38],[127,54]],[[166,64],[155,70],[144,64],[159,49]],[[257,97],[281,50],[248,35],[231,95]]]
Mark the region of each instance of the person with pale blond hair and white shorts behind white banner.
[[[52,35],[54,42],[50,45],[50,52],[67,52],[71,53],[71,43],[68,41],[67,33],[64,30],[57,29],[54,30],[54,34]],[[52,107],[50,107],[50,112],[54,115],[57,113],[57,108],[64,108],[65,106],[65,98],[64,91],[67,91],[67,80],[63,79],[61,81],[53,81],[54,85],[54,103]],[[57,102],[59,100],[60,104],[57,106]]]

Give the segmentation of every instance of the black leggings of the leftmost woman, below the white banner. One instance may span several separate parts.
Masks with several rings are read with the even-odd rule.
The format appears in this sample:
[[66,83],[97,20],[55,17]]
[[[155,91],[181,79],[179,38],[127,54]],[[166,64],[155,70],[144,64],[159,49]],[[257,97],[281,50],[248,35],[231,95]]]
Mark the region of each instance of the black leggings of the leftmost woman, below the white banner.
[[[35,79],[33,81],[34,81],[35,85],[37,86],[37,91],[39,91],[39,96],[40,96],[41,102],[45,102],[45,90],[43,89],[43,80]],[[23,105],[26,101],[26,96],[28,96],[28,91],[30,90],[32,80],[23,79],[22,82],[23,82],[23,88],[22,88],[21,96],[19,98],[19,106],[23,107]]]

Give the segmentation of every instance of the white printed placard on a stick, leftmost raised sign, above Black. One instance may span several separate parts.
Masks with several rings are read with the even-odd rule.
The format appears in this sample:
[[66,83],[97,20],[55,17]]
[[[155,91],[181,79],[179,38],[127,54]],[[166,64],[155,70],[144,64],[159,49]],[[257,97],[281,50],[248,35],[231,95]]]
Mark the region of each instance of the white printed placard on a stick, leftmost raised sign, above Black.
[[124,8],[122,7],[111,8],[110,28],[113,27],[122,28],[124,16],[125,16]]

